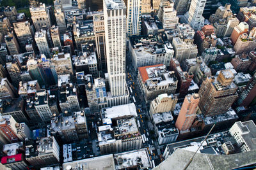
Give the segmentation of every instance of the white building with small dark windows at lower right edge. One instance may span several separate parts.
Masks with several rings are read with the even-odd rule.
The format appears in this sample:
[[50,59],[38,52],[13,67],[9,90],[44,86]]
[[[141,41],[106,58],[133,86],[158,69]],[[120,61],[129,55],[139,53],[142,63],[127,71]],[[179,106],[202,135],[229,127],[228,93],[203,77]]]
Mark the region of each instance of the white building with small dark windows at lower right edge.
[[236,122],[229,129],[231,136],[234,136],[242,152],[256,149],[256,125],[252,120]]

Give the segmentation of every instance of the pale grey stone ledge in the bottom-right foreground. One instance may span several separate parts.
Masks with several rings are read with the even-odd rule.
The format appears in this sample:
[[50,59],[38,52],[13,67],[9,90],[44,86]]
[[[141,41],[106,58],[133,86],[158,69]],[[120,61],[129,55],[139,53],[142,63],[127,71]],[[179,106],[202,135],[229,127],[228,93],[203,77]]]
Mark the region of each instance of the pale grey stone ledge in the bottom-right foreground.
[[[188,150],[177,150],[166,160],[164,160],[159,166],[153,170],[164,170],[164,169],[184,169],[185,165],[188,164],[189,159],[194,155],[195,152]],[[237,153],[232,155],[212,155],[205,153],[196,153],[188,169],[236,169],[239,167],[246,167],[256,163],[254,155],[256,150]]]

